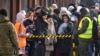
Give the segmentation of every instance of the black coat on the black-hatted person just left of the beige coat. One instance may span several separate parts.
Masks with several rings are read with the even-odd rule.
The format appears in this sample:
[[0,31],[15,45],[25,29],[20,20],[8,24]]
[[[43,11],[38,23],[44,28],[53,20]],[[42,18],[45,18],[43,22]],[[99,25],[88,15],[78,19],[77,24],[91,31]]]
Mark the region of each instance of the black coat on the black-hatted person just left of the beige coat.
[[35,21],[36,25],[36,34],[37,35],[46,35],[47,34],[47,29],[48,29],[48,24],[42,20],[42,18],[38,18]]

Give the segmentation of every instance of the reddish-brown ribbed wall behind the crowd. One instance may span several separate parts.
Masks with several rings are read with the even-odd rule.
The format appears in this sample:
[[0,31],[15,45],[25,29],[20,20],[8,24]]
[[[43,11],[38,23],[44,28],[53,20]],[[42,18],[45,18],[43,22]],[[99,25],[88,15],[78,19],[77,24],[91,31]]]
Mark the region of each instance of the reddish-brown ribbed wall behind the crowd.
[[20,10],[26,11],[28,8],[34,8],[37,4],[48,7],[52,3],[57,3],[60,8],[62,6],[67,7],[69,3],[75,3],[75,0],[0,0],[0,9],[6,9],[11,22],[15,23],[16,14]]

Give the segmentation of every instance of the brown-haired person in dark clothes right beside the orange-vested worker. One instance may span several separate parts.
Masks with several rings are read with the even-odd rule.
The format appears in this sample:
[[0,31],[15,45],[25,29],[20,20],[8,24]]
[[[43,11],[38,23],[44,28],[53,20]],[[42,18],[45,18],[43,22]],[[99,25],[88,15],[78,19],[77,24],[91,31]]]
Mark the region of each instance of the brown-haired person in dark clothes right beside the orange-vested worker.
[[[33,11],[28,11],[26,14],[26,19],[24,20],[23,24],[26,28],[26,33],[30,33],[32,35],[35,34],[35,25],[33,22],[33,16],[34,12]],[[27,38],[27,46],[26,46],[26,51],[28,53],[28,56],[32,55],[32,51],[34,51],[34,40],[33,39],[28,39]]]

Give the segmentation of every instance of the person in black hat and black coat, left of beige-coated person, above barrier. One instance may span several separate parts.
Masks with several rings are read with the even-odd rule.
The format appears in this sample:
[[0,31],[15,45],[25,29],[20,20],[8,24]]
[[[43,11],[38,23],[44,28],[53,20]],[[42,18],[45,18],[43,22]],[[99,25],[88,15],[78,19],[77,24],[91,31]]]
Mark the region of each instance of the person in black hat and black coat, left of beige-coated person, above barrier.
[[46,11],[42,10],[40,14],[41,14],[40,17],[35,22],[37,35],[47,34],[48,25],[45,22],[45,20],[47,19],[47,13]]

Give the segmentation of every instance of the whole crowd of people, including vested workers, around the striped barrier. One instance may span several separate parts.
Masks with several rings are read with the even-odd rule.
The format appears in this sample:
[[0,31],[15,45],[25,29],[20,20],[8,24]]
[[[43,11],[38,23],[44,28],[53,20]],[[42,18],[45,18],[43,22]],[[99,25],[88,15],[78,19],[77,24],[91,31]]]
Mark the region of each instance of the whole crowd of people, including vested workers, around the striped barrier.
[[[70,38],[29,38],[30,35],[72,35]],[[12,24],[4,9],[0,10],[0,56],[77,56],[100,55],[100,8],[95,5],[37,5],[21,10]],[[5,54],[6,53],[6,54]]]

